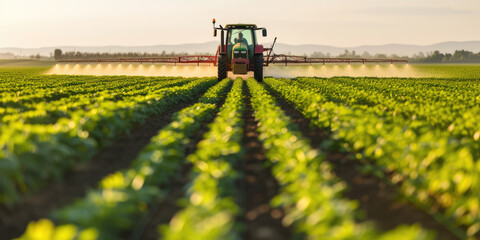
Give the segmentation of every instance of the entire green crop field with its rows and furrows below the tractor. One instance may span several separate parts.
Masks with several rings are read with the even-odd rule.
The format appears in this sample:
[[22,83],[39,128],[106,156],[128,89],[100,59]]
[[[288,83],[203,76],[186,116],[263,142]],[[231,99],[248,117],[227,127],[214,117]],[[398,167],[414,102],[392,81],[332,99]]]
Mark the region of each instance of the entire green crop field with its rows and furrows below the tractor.
[[479,67],[423,68],[442,77],[0,68],[0,238],[480,239]]

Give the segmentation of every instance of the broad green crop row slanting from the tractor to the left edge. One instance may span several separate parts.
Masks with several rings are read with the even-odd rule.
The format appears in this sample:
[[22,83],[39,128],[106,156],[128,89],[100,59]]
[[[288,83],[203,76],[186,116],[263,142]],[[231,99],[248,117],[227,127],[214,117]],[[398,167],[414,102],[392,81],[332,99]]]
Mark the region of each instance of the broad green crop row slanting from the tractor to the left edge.
[[145,96],[122,101],[99,100],[89,109],[69,113],[54,124],[11,122],[0,126],[0,202],[12,204],[20,195],[60,179],[80,159],[125,132],[135,122],[175,104],[193,100],[215,84],[213,78],[186,85],[154,89]]

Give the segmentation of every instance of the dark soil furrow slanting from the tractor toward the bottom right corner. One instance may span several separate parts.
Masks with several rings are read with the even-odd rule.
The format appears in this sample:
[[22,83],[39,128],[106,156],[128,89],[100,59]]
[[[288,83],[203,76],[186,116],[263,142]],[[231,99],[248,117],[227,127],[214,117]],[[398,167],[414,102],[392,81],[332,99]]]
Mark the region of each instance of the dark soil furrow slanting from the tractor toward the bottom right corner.
[[359,203],[363,213],[358,221],[373,221],[381,231],[388,231],[400,225],[420,224],[423,228],[436,232],[437,240],[458,239],[433,216],[415,207],[402,198],[395,186],[385,183],[382,179],[361,172],[364,165],[354,159],[352,153],[333,152],[322,147],[330,137],[330,133],[310,124],[301,112],[291,104],[276,96],[278,105],[298,126],[303,136],[307,137],[313,147],[320,148],[325,153],[325,160],[332,167],[334,174],[344,181],[348,189],[344,197]]

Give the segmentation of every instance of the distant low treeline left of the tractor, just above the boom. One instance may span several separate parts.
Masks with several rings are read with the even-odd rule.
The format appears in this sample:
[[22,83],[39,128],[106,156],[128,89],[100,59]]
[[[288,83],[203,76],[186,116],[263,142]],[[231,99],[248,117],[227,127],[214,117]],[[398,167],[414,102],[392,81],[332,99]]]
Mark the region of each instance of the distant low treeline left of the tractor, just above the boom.
[[[185,52],[171,52],[167,53],[163,51],[162,53],[138,53],[138,52],[128,52],[128,53],[88,53],[88,52],[65,52],[63,53],[61,49],[55,49],[53,57],[55,60],[62,59],[119,59],[119,58],[158,58],[158,57],[178,57],[178,56],[188,56]],[[195,55],[210,55],[208,53],[201,53]]]

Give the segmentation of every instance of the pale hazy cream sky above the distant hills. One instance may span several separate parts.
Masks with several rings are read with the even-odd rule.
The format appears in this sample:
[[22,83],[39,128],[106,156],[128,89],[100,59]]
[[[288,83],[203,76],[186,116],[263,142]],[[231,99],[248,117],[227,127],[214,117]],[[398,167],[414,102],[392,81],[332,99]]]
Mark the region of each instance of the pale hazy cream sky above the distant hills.
[[480,40],[480,0],[0,0],[0,47],[200,43],[217,24],[353,47]]

